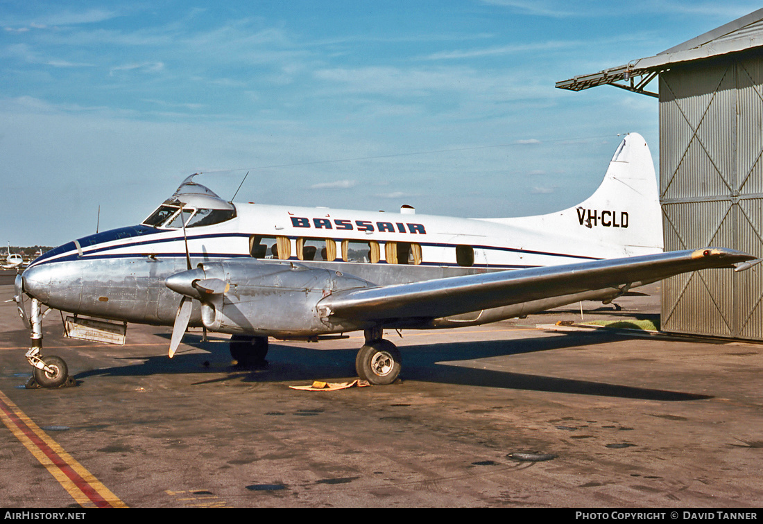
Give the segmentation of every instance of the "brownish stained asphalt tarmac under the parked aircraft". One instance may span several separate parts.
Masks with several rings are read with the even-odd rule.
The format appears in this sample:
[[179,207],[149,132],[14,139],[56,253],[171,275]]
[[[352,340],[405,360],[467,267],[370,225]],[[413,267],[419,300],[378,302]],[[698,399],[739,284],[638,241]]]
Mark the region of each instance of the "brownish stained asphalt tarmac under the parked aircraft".
[[[543,327],[581,321],[575,304],[385,333],[403,356],[396,383],[299,391],[289,386],[356,378],[362,334],[271,340],[269,365],[245,369],[232,365],[227,336],[202,342],[192,331],[170,360],[169,327],[130,325],[126,346],[104,346],[64,338],[53,311],[43,353],[64,358],[78,385],[27,389],[29,334],[5,302],[6,277],[2,508],[763,501],[763,346],[754,342]],[[620,298],[621,311],[584,302],[582,320],[655,319],[658,286],[647,292]]]

